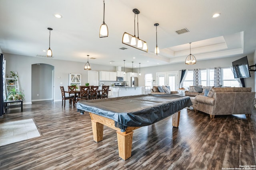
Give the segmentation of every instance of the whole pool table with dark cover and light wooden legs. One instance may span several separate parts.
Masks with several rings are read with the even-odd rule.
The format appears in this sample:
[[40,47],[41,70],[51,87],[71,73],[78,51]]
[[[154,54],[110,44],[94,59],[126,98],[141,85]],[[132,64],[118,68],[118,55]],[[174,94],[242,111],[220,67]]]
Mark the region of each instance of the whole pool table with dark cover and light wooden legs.
[[103,140],[103,125],[116,130],[119,156],[126,160],[132,154],[134,129],[151,125],[170,115],[173,115],[172,125],[178,127],[180,110],[188,106],[192,106],[189,96],[146,94],[79,100],[76,108],[80,114],[89,112],[94,141]]

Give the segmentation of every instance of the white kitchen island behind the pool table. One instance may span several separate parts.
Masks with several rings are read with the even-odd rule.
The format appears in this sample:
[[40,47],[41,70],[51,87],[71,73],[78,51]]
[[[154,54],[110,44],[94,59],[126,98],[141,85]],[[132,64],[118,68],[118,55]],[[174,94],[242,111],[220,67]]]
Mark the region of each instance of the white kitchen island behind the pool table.
[[112,98],[122,96],[134,96],[142,94],[142,87],[128,87],[128,86],[113,86],[112,87]]

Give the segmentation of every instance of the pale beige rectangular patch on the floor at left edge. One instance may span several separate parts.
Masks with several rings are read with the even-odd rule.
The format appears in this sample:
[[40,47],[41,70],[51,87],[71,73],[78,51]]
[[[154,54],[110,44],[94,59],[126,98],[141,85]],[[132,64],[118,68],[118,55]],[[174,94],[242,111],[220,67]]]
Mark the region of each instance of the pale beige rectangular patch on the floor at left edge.
[[33,119],[0,123],[0,146],[39,137]]

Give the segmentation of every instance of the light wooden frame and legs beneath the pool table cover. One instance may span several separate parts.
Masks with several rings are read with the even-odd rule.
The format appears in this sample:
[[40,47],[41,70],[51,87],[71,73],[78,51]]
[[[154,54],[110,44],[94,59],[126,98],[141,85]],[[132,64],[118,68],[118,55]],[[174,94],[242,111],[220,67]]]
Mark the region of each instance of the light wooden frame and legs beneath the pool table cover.
[[[90,112],[89,112],[90,113]],[[133,130],[140,127],[127,127],[125,132],[121,132],[121,129],[115,127],[115,121],[94,113],[90,113],[92,119],[92,133],[93,140],[100,142],[103,140],[103,125],[116,130],[118,141],[118,152],[120,158],[126,160],[132,156],[132,135]],[[178,127],[180,122],[180,111],[172,115],[172,126]]]

